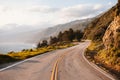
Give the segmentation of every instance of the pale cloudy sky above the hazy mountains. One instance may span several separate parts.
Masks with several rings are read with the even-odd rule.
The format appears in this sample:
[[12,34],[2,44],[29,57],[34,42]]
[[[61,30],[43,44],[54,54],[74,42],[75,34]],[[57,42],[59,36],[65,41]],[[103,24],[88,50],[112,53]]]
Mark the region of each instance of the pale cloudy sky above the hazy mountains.
[[0,0],[0,30],[23,25],[43,28],[93,17],[111,8],[116,2],[117,0]]

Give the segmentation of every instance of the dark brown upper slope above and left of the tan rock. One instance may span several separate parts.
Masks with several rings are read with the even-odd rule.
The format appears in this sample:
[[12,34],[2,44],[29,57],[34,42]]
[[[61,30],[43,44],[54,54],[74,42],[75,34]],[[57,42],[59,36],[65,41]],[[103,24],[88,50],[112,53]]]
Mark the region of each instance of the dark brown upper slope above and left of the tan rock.
[[104,33],[116,16],[117,6],[112,7],[106,13],[92,21],[85,29],[84,38],[102,40]]

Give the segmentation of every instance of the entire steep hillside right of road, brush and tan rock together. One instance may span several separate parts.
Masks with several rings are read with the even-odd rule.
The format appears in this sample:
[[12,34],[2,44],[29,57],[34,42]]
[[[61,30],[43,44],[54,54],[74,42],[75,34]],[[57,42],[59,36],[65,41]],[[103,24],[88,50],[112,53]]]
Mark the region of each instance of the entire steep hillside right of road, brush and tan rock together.
[[88,25],[84,38],[92,40],[87,57],[120,78],[120,0]]

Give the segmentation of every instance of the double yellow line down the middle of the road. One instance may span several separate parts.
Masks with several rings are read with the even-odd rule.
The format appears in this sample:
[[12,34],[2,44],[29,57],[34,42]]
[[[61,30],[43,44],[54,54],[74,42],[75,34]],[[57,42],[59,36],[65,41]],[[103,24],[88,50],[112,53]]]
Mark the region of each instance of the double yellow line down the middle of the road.
[[50,80],[57,80],[58,79],[58,65],[60,61],[64,58],[65,54],[61,55],[55,62]]

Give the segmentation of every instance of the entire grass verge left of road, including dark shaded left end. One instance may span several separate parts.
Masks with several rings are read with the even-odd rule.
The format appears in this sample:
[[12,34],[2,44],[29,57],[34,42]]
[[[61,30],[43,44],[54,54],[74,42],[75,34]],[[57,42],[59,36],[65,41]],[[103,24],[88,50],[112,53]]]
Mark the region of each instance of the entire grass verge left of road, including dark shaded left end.
[[63,48],[68,48],[72,46],[74,46],[74,44],[72,43],[64,43],[64,44],[61,43],[59,45],[51,45],[51,46],[41,47],[36,49],[27,49],[27,50],[24,49],[20,52],[9,52],[6,55],[3,55],[3,54],[0,55],[0,64],[15,62],[18,60],[24,60],[24,59],[37,56],[46,52],[50,52],[56,49],[63,49]]

